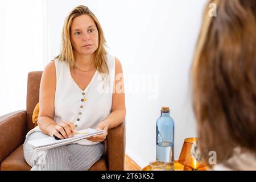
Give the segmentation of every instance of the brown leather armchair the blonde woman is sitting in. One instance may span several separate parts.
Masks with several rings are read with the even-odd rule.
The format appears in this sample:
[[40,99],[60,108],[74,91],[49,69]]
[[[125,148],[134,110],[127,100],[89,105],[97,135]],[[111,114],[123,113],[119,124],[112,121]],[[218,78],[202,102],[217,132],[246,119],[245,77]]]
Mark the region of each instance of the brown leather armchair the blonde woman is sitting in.
[[[27,109],[0,117],[0,170],[30,170],[23,156],[25,136],[34,125],[32,113],[39,102],[39,86],[42,71],[28,73]],[[108,130],[105,151],[89,170],[123,170],[125,162],[125,121]]]

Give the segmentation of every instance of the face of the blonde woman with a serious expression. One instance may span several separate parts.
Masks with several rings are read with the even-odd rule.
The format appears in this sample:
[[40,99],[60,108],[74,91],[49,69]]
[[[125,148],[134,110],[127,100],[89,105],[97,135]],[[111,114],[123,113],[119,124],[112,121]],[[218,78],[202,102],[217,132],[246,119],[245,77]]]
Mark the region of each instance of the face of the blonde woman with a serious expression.
[[80,15],[71,24],[71,44],[75,53],[90,55],[98,48],[98,30],[88,15]]

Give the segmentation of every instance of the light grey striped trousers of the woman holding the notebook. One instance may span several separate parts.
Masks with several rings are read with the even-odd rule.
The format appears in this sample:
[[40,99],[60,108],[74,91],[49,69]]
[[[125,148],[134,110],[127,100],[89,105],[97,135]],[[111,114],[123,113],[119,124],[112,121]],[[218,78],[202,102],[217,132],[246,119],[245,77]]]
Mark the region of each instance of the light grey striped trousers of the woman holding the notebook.
[[28,135],[24,144],[24,158],[32,167],[31,171],[88,170],[104,152],[104,142],[95,145],[68,144],[45,151],[35,151],[27,142],[46,138],[48,135],[35,131]]

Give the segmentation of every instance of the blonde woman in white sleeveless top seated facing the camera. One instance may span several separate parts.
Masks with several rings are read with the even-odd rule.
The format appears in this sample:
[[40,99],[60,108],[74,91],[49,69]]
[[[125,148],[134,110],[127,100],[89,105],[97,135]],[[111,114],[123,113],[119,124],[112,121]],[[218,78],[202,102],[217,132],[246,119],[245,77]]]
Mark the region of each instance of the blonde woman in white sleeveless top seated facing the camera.
[[[121,63],[106,54],[104,43],[100,23],[88,7],[77,6],[69,13],[60,55],[43,71],[39,126],[28,132],[24,142],[24,158],[31,170],[88,170],[102,156],[108,129],[125,119],[123,83],[115,80],[122,74]],[[27,144],[48,135],[72,137],[89,127],[105,133],[43,153]]]

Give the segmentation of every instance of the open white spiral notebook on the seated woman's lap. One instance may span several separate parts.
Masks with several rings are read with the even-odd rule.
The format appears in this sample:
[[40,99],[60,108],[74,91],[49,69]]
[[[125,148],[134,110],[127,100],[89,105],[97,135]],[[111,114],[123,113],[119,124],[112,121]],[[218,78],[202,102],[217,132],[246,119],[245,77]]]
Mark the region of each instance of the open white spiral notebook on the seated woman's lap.
[[46,137],[41,139],[30,140],[27,143],[30,144],[30,146],[34,148],[36,151],[48,150],[51,148],[71,144],[78,140],[92,137],[94,135],[103,134],[104,132],[105,132],[104,130],[97,131],[89,128],[85,130],[76,131],[76,134],[73,135],[72,138],[64,138],[64,139],[56,140],[54,137]]

